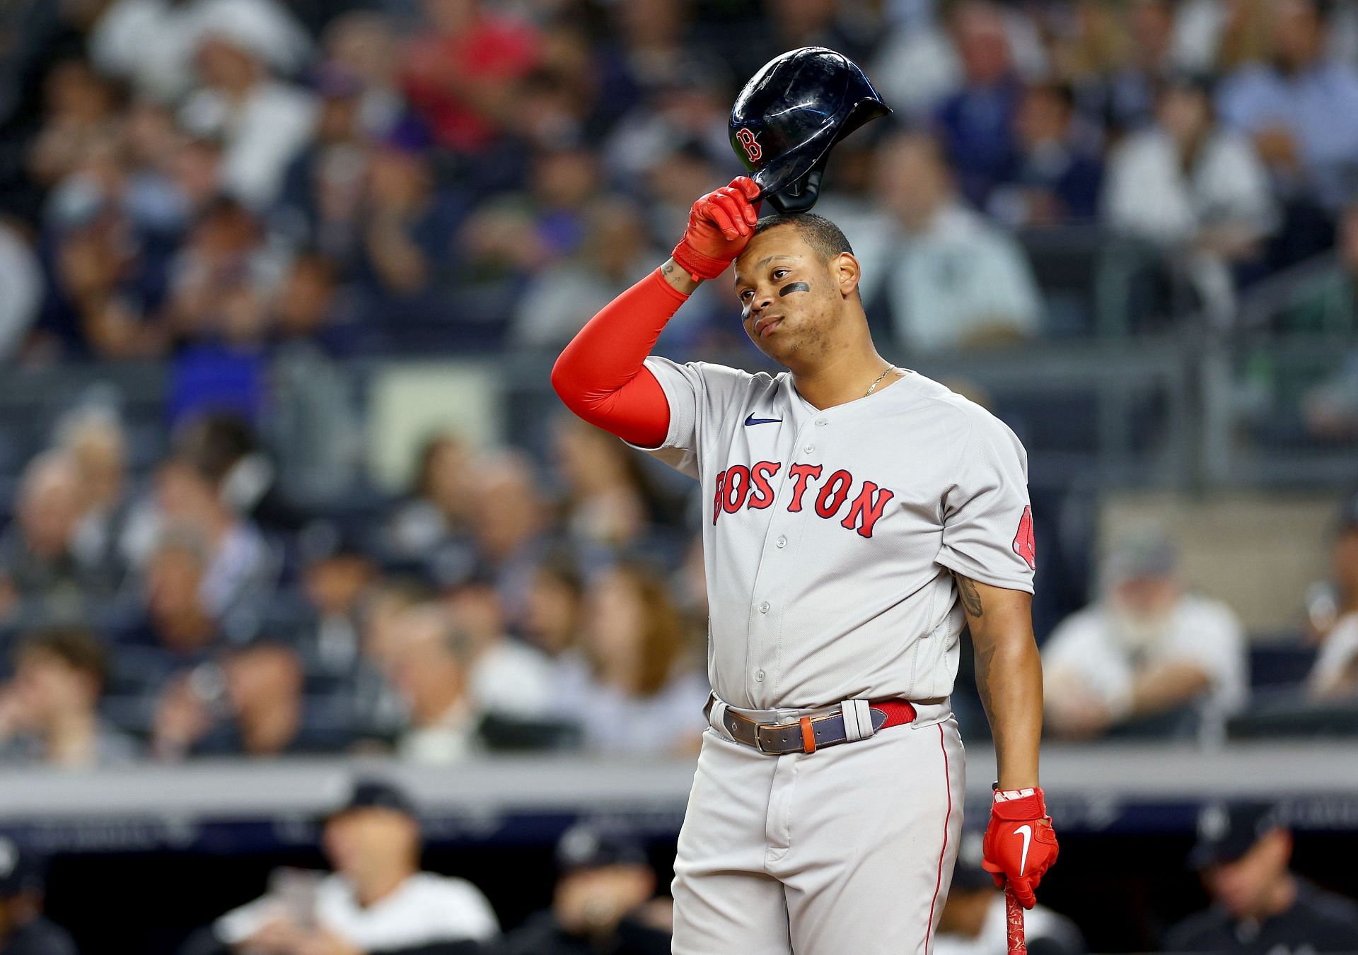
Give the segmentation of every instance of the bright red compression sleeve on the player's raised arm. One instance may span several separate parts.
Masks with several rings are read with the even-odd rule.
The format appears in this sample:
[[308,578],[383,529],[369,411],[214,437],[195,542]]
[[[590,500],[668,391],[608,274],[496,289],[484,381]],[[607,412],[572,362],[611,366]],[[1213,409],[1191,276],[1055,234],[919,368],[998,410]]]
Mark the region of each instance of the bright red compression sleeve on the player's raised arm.
[[642,362],[687,298],[657,269],[589,319],[551,369],[566,407],[623,441],[664,444],[669,402]]

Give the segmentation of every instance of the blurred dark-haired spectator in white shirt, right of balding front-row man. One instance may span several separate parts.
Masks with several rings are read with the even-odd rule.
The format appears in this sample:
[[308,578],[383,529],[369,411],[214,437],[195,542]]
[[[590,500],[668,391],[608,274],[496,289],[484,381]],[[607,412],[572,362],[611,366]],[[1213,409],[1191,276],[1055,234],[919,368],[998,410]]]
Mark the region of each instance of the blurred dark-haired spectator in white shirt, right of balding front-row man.
[[478,716],[547,716],[555,697],[551,659],[509,636],[496,589],[464,581],[447,591],[444,605],[467,642],[467,688]]

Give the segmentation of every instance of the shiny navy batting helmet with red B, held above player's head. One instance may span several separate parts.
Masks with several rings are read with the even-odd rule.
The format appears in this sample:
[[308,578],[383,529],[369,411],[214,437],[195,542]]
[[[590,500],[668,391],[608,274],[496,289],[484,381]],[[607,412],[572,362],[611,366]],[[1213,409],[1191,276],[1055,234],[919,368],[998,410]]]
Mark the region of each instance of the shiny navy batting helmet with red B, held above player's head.
[[807,212],[830,148],[891,109],[857,64],[823,46],[774,57],[731,107],[731,145],[778,212]]

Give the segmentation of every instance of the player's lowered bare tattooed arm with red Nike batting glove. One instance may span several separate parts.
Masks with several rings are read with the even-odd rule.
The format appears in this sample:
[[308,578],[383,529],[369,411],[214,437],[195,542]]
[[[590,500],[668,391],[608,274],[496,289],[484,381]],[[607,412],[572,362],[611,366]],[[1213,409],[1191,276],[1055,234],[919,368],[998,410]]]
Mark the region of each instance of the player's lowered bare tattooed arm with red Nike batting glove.
[[1032,636],[1032,594],[960,574],[957,591],[976,650],[976,689],[995,739],[999,779],[986,826],[986,871],[1025,908],[1057,860],[1057,836],[1038,780],[1042,662]]

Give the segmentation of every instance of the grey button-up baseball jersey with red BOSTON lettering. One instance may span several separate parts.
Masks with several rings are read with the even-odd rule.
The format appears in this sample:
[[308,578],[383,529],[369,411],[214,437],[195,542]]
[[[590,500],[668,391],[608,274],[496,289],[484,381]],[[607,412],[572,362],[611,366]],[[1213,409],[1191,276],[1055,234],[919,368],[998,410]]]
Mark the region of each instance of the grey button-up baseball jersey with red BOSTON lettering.
[[980,406],[914,372],[818,410],[788,373],[646,366],[669,431],[641,450],[702,484],[721,700],[948,696],[966,623],[949,571],[1032,593],[1027,456]]

